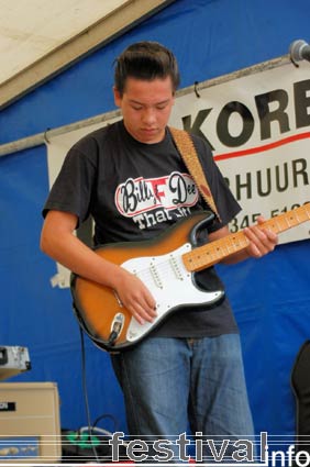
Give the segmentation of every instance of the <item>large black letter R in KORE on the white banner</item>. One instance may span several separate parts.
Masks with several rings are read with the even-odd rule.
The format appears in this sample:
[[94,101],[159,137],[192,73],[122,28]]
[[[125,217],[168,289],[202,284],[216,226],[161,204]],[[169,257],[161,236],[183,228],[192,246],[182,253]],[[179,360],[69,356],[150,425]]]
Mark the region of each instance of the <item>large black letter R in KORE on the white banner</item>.
[[[288,105],[288,93],[284,89],[255,96],[256,108],[261,121],[261,138],[267,140],[272,136],[272,122],[278,122],[280,133],[288,132],[289,118],[285,110]],[[270,103],[277,102],[278,108],[270,110]]]

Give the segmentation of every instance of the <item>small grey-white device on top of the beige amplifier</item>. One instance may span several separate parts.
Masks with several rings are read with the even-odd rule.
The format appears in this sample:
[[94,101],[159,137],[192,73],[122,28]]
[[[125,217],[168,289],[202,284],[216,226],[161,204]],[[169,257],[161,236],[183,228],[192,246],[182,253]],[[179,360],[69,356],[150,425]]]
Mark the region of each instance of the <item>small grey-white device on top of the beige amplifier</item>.
[[29,351],[20,346],[0,346],[0,380],[31,369]]

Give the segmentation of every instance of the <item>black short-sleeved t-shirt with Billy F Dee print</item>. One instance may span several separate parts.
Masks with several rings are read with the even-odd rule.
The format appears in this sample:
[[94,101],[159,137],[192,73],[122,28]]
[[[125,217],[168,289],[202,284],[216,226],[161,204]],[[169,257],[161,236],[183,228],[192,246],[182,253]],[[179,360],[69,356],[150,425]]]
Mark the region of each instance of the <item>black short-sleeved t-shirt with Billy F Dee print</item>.
[[[226,225],[240,205],[209,146],[198,136],[192,138],[221,218],[209,227],[213,232]],[[126,132],[122,121],[90,133],[71,147],[43,215],[48,210],[74,213],[78,224],[91,215],[95,245],[151,240],[196,211],[210,211],[168,129],[162,142],[144,144]],[[207,238],[207,233],[202,236]],[[197,281],[206,288],[220,285],[214,268],[199,273]],[[206,311],[179,310],[152,335],[200,337],[236,331],[225,299]]]

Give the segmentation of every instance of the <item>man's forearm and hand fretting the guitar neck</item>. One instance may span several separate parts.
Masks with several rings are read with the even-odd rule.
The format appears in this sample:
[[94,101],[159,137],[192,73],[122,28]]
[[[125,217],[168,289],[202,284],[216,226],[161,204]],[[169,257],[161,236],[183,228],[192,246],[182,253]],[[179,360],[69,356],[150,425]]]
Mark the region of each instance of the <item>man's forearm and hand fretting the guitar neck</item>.
[[[262,225],[264,222],[265,219],[261,216],[258,218],[256,225],[244,229],[243,233],[250,242],[248,246],[241,252],[233,253],[232,255],[228,256],[222,263],[235,264],[250,257],[261,258],[262,256],[273,252],[278,243],[278,236],[267,229],[259,229],[259,225]],[[217,232],[210,233],[209,240],[212,242],[219,238],[223,238],[229,233],[229,227],[224,226]]]

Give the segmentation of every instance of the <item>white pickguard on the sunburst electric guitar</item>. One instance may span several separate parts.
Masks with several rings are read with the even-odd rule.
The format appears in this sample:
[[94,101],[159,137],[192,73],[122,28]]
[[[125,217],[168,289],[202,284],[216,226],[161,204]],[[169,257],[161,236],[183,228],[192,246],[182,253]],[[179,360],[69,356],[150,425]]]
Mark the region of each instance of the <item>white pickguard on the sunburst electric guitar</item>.
[[132,318],[126,333],[129,342],[140,340],[178,305],[210,304],[222,296],[221,291],[206,292],[195,286],[192,275],[185,268],[181,259],[181,255],[190,251],[190,243],[186,243],[167,255],[133,258],[122,264],[123,268],[137,276],[148,288],[156,300],[157,311],[152,323],[140,324]]

